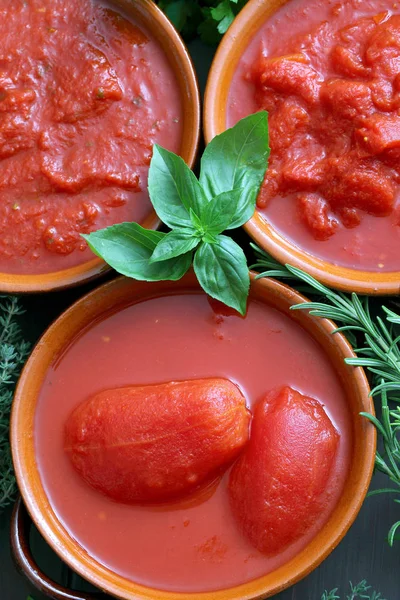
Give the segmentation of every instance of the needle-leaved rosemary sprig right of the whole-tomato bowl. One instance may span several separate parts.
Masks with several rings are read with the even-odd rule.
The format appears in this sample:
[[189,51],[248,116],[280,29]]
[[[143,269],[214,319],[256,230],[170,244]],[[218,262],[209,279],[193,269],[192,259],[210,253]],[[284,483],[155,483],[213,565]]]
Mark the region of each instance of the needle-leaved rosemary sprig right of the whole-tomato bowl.
[[[374,490],[369,495],[396,494],[399,498],[394,501],[400,504],[400,407],[397,406],[400,401],[400,315],[383,307],[382,315],[373,316],[367,296],[335,292],[304,271],[291,265],[283,266],[256,245],[251,246],[257,257],[252,268],[262,271],[257,277],[295,280],[296,284],[301,283],[301,291],[319,296],[312,302],[292,308],[308,310],[311,315],[339,323],[340,327],[334,333],[344,332],[357,354],[357,358],[348,358],[346,363],[364,367],[370,373],[371,396],[381,401],[381,418],[361,414],[375,425],[381,436],[383,451],[377,451],[375,467],[389,478],[394,487]],[[356,336],[363,339],[361,347],[357,347]],[[400,520],[390,528],[388,542],[391,546],[399,527]]]

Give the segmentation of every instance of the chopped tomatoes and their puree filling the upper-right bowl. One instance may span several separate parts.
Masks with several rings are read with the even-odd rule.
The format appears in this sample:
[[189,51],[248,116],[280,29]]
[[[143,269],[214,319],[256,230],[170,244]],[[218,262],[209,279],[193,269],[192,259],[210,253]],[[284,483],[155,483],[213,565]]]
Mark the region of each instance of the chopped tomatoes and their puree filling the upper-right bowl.
[[269,111],[259,211],[304,250],[400,269],[400,14],[388,0],[290,0],[246,49],[228,125]]

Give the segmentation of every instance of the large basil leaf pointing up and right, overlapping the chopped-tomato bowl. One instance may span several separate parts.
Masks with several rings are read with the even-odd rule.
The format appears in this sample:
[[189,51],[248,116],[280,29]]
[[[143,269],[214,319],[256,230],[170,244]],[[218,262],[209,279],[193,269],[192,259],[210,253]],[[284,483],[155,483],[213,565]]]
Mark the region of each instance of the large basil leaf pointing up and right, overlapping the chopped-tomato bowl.
[[[258,193],[268,166],[268,139],[268,113],[261,111],[211,140],[202,156],[200,172],[207,198],[212,200],[236,188],[255,187]],[[252,202],[251,197],[249,205]]]

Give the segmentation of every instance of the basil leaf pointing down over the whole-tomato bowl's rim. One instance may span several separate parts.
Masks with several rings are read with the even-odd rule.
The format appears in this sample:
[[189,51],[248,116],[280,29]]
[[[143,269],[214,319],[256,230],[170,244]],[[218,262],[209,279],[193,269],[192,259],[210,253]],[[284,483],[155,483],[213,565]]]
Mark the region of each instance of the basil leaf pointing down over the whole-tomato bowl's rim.
[[250,275],[246,257],[231,238],[219,235],[203,243],[194,256],[194,271],[203,290],[240,314],[246,313]]

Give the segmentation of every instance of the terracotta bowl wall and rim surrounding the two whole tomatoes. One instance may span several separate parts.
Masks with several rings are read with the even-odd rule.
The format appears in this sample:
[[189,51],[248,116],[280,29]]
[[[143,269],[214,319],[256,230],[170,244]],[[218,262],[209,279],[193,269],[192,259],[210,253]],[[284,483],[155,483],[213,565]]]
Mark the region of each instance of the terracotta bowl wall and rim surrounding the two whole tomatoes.
[[[192,273],[175,283],[144,283],[118,278],[102,285],[76,302],[47,330],[28,360],[16,390],[11,420],[12,453],[18,485],[35,525],[74,571],[124,600],[255,600],[280,592],[312,571],[340,542],[361,507],[374,467],[375,428],[359,415],[361,411],[372,413],[373,404],[364,371],[344,363],[345,357],[354,356],[348,342],[341,334],[332,335],[335,326],[331,321],[290,310],[293,304],[304,301],[303,296],[274,280],[256,281],[253,275],[251,297],[288,315],[316,340],[337,372],[347,396],[354,443],[343,494],[328,522],[304,550],[276,571],[234,588],[207,593],[183,594],[144,587],[117,575],[81,548],[53,511],[35,458],[35,409],[46,372],[76,336],[105,314],[155,295],[199,289]],[[21,564],[23,560],[19,562]],[[25,562],[29,563],[29,560]],[[31,576],[31,580],[35,578]]]

